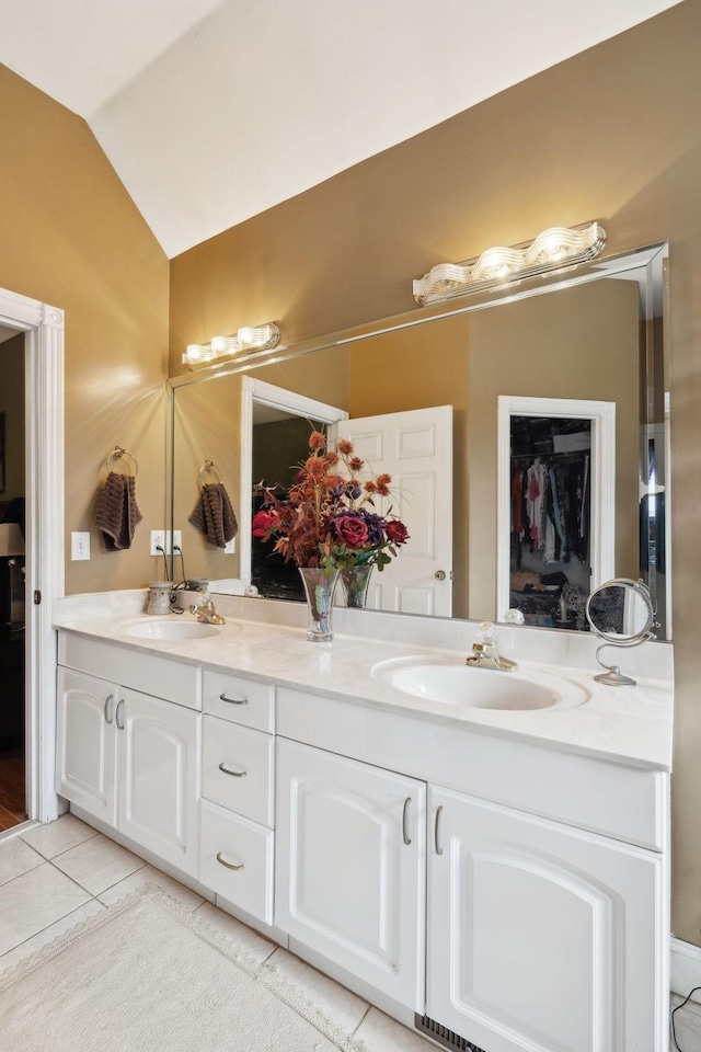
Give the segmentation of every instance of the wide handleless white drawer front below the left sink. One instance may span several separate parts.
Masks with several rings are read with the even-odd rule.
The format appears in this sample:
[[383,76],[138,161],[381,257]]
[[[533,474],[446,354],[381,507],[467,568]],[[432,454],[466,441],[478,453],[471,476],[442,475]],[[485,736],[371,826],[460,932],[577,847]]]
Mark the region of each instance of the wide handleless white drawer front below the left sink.
[[202,708],[198,666],[174,658],[59,631],[58,663],[188,709]]

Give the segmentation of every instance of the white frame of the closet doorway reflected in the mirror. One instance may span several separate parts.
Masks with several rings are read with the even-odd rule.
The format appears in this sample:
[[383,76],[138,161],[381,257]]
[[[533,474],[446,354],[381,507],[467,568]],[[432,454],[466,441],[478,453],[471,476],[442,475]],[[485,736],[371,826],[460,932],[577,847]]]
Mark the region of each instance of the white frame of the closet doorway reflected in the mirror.
[[616,402],[578,398],[497,398],[496,618],[509,607],[512,416],[566,416],[591,422],[591,591],[616,568]]

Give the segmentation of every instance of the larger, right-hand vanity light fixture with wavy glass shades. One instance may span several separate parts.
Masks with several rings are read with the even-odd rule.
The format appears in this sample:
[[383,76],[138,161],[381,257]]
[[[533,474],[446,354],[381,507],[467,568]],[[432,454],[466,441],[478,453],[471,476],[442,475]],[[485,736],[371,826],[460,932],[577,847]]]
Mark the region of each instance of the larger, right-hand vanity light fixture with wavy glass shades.
[[486,249],[466,263],[438,263],[414,282],[414,299],[423,307],[468,293],[505,287],[526,277],[561,271],[598,255],[606,231],[598,222],[550,227],[522,244]]

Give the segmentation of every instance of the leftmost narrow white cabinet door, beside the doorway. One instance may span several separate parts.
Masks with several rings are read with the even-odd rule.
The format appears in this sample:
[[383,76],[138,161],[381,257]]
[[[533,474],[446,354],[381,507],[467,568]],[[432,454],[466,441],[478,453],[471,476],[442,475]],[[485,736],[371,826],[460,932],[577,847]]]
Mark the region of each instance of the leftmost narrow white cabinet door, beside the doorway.
[[117,688],[58,670],[56,791],[116,824],[114,713]]

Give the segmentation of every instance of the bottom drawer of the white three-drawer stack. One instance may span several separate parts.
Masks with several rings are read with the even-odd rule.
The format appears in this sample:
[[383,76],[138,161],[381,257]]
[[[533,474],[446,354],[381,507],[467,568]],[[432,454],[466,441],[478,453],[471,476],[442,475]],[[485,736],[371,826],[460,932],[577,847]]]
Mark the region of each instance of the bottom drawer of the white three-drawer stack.
[[203,800],[199,879],[228,902],[272,924],[272,831]]

